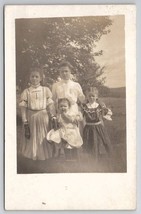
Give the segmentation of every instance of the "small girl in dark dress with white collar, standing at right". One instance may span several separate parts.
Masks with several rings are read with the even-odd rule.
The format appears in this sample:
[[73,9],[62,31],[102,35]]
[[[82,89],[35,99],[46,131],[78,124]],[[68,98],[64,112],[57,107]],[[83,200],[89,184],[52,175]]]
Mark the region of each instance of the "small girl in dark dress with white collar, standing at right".
[[96,160],[101,155],[110,154],[110,140],[104,127],[103,118],[112,120],[112,112],[98,100],[97,88],[89,88],[86,92],[88,103],[82,106],[85,120],[83,131],[83,148]]

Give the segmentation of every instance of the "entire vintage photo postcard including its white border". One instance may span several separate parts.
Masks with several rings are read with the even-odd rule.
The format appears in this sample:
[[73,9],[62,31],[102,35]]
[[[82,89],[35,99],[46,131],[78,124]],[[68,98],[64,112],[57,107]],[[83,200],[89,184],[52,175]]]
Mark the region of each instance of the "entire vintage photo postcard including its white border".
[[135,6],[7,5],[5,209],[135,207]]

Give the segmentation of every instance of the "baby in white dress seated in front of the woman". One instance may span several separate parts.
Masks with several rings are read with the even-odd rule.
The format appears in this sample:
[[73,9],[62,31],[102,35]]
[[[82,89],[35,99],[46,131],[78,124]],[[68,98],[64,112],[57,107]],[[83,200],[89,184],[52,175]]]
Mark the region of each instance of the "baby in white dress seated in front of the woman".
[[82,121],[81,112],[70,111],[71,103],[67,98],[58,100],[58,129],[47,134],[47,140],[55,143],[55,157],[64,154],[64,148],[80,148],[83,144],[78,122]]

